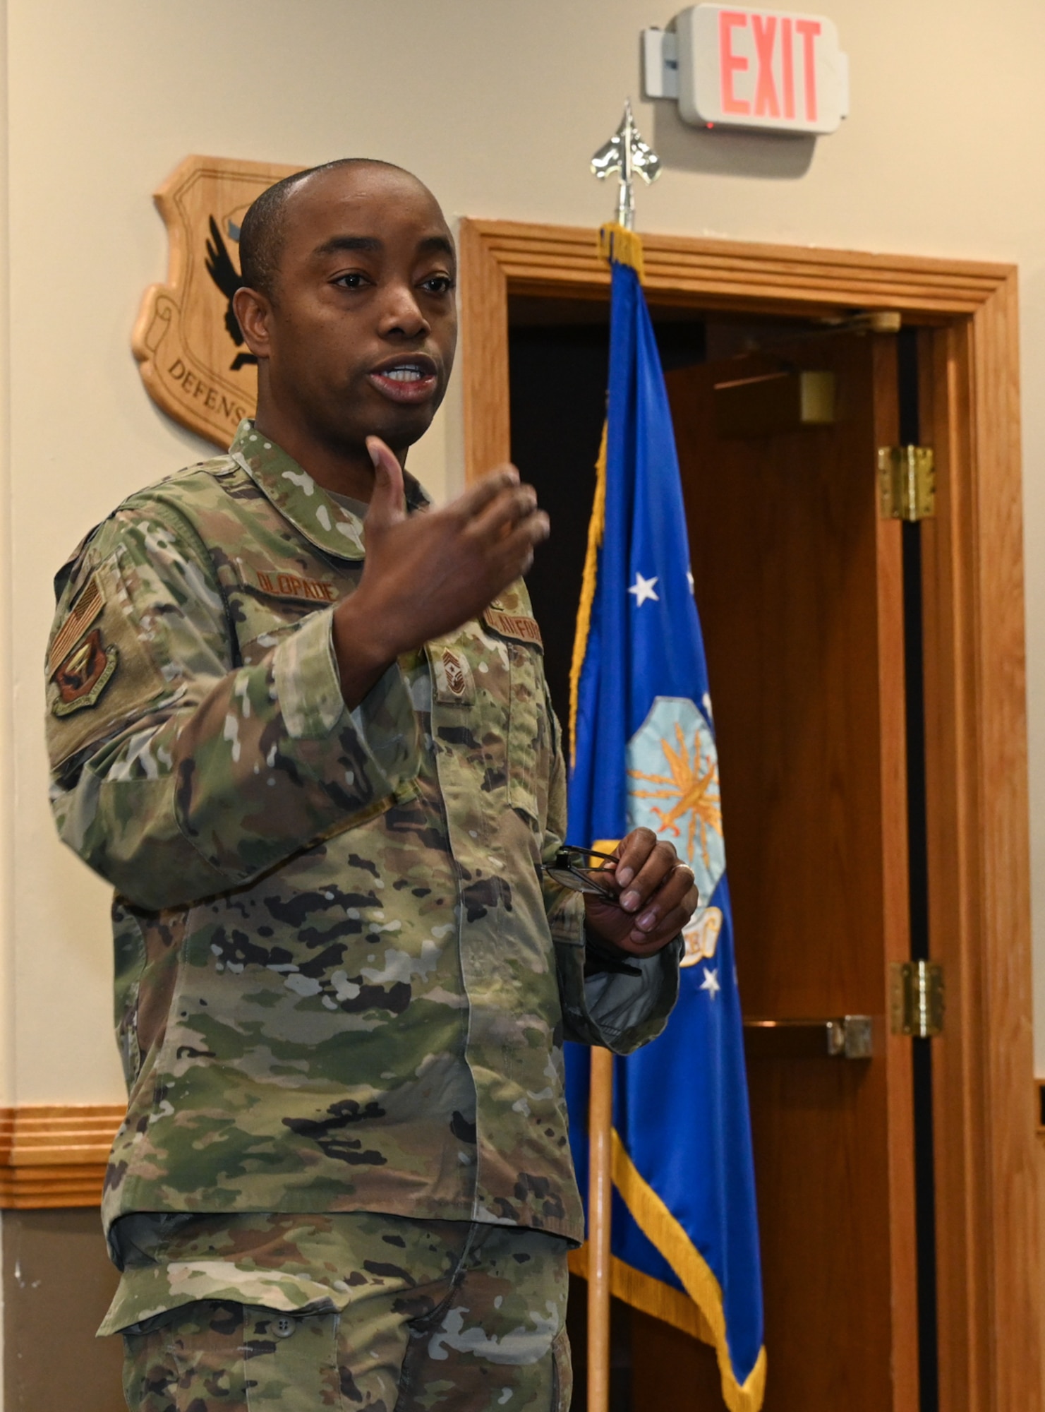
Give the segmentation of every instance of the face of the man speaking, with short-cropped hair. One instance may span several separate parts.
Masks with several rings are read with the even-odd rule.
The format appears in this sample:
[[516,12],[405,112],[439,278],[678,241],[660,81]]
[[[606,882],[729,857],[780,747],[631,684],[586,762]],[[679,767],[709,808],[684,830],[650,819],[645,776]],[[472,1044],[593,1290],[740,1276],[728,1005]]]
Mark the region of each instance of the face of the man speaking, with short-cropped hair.
[[[342,167],[288,196],[273,301],[251,347],[267,397],[333,450],[428,429],[458,340],[453,241],[405,172]],[[254,347],[254,343],[258,343]]]

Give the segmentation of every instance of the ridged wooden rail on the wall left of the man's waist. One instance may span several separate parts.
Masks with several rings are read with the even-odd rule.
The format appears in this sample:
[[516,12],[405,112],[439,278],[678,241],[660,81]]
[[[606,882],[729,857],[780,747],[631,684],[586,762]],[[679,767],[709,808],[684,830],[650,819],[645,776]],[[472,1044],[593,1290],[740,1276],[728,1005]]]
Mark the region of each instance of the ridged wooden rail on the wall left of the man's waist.
[[99,1206],[121,1103],[0,1108],[0,1210]]

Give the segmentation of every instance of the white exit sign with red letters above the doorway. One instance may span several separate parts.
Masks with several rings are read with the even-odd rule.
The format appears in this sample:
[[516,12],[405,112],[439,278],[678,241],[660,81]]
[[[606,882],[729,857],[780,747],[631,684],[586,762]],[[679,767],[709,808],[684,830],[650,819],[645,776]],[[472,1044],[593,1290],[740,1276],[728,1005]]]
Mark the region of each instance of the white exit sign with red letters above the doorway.
[[833,133],[849,112],[849,61],[826,16],[698,4],[676,35],[686,123]]

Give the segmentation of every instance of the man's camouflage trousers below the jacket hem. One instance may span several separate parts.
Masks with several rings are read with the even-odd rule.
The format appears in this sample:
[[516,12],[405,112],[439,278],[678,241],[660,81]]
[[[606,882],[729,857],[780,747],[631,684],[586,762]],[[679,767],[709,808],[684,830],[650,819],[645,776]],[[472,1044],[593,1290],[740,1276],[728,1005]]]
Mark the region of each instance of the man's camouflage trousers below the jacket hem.
[[[359,1248],[354,1248],[357,1244]],[[508,1226],[360,1219],[342,1308],[227,1299],[126,1332],[131,1412],[568,1412],[566,1243]]]

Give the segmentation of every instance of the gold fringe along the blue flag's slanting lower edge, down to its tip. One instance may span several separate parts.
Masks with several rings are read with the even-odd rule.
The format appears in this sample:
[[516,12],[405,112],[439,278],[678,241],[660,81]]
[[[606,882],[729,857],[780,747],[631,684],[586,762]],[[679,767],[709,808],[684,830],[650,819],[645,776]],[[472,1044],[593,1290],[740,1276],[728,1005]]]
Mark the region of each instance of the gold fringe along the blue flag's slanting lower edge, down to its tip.
[[715,1278],[715,1272],[657,1192],[638,1175],[616,1128],[610,1141],[613,1144],[613,1185],[634,1216],[638,1228],[664,1255],[696,1305],[700,1320],[710,1334],[710,1337],[705,1337],[698,1333],[698,1337],[705,1337],[705,1341],[715,1347],[722,1377],[722,1395],[729,1412],[760,1412],[765,1396],[765,1348],[760,1350],[756,1365],[744,1382],[737,1382],[726,1343],[722,1286]]

